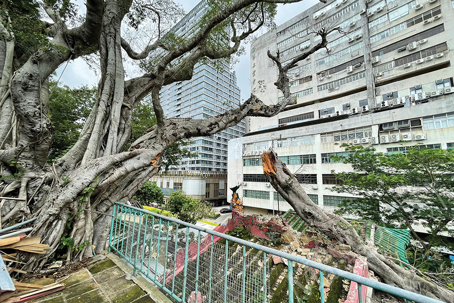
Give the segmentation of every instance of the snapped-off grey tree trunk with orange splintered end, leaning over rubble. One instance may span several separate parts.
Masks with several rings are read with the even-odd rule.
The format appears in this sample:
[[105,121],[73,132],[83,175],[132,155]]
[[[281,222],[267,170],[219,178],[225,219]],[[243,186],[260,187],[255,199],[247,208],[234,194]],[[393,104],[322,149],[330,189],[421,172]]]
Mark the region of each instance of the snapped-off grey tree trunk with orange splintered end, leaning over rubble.
[[368,266],[387,284],[400,287],[446,302],[454,302],[454,293],[434,283],[424,280],[413,272],[406,270],[386,256],[378,253],[372,243],[365,241],[355,229],[341,216],[330,213],[314,204],[307,196],[277,154],[271,150],[261,156],[263,171],[274,189],[292,206],[295,212],[309,226],[322,231],[325,235],[340,243],[350,245],[352,250],[367,258]]

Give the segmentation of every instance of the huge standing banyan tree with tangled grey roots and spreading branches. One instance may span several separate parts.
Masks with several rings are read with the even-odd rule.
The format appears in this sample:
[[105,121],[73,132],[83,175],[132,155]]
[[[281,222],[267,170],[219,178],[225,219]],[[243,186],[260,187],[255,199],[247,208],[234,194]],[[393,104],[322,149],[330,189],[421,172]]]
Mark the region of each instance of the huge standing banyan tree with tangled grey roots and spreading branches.
[[[92,254],[88,243],[97,251],[105,249],[109,217],[103,213],[110,213],[115,201],[130,199],[156,174],[161,154],[173,143],[215,134],[246,116],[270,117],[294,104],[287,70],[325,47],[333,29],[320,28],[315,33],[322,38],[318,44],[285,66],[277,64],[276,86],[285,98],[276,105],[251,95],[237,108],[209,119],[167,118],[159,92],[190,80],[196,64],[228,62],[242,50],[243,41],[262,26],[273,26],[278,3],[299,1],[209,0],[193,34],[179,37],[170,30],[182,16],[172,0],[87,0],[82,17],[69,0],[3,0],[0,196],[20,200],[2,200],[2,223],[38,216],[31,235],[50,245],[44,255],[24,256],[26,267],[41,267],[62,237],[71,238],[71,246],[81,248],[83,255]],[[150,42],[134,50],[141,44],[122,37],[125,28],[147,33]],[[79,140],[50,163],[49,77],[78,57],[99,62],[98,98]],[[143,75],[127,79],[126,59],[138,62]],[[146,96],[151,96],[157,124],[131,144],[132,112]]]

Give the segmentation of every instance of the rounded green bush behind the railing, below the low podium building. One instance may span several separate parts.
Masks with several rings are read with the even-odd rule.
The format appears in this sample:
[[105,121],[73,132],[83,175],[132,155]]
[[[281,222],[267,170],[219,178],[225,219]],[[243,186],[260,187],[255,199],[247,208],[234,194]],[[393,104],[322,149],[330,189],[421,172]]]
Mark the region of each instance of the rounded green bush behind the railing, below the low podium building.
[[171,193],[163,209],[176,214],[180,220],[193,224],[213,213],[210,203],[187,196],[182,190]]

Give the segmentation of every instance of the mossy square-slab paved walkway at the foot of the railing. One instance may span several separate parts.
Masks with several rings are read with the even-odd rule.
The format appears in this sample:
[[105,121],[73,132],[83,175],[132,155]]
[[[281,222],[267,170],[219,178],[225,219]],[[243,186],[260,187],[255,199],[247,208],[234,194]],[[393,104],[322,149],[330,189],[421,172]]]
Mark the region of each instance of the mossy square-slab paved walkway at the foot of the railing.
[[[141,276],[133,277],[119,257],[108,259],[73,273],[63,291],[34,300],[34,303],[170,303],[157,288]],[[145,291],[144,291],[145,289]]]

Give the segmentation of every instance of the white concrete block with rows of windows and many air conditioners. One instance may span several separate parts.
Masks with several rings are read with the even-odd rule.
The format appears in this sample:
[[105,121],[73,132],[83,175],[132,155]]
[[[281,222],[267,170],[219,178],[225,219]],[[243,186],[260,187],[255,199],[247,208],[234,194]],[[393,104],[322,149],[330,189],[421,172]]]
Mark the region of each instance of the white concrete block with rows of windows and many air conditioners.
[[372,144],[388,153],[416,144],[454,148],[453,7],[451,0],[338,0],[258,37],[251,45],[252,92],[275,104],[282,94],[268,50],[279,50],[284,62],[317,43],[307,23],[350,32],[330,34],[329,54],[319,50],[289,71],[296,105],[273,118],[248,118],[246,135],[229,142],[227,184],[242,184],[245,211],[290,207],[263,175],[260,154],[271,146],[328,210],[349,196],[329,190],[336,182],[331,170],[351,170],[330,158],[343,151],[335,143]]

